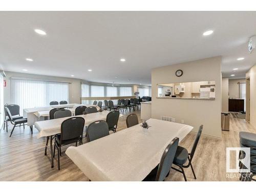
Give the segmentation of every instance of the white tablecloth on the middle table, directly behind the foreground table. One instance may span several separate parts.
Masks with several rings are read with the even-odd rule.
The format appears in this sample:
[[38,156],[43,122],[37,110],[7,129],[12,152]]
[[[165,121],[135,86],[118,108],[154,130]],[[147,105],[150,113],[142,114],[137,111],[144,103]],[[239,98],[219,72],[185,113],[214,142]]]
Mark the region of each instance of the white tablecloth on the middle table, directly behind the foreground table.
[[[108,111],[104,111],[104,112],[98,112],[98,113],[90,113],[87,115],[77,115],[73,117],[83,117],[85,119],[84,126],[88,126],[93,121],[106,120],[106,115],[108,115],[108,113],[109,113]],[[120,114],[119,117],[121,116],[123,115]],[[35,122],[35,128],[39,132],[37,134],[37,138],[56,135],[60,133],[61,123],[68,118],[70,117]]]

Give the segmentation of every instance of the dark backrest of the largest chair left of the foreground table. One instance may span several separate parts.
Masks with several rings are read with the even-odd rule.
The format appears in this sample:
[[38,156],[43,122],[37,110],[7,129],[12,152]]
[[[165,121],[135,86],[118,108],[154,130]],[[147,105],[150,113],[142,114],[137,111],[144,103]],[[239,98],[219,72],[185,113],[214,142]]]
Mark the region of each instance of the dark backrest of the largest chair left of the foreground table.
[[84,119],[82,117],[72,117],[61,123],[60,142],[75,139],[82,136]]

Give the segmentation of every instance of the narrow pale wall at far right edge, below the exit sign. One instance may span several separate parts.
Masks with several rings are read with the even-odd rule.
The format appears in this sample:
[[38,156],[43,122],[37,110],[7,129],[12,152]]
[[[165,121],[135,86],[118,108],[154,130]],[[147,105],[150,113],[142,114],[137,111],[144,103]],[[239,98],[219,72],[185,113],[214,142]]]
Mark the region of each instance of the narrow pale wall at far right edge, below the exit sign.
[[247,78],[250,78],[250,123],[256,127],[256,65],[246,73]]

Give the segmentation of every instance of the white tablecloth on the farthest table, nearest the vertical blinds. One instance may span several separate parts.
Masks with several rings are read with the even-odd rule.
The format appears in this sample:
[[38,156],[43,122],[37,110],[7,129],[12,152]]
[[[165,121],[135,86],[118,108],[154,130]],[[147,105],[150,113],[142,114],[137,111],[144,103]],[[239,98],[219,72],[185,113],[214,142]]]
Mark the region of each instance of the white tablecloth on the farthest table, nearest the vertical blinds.
[[[93,105],[93,104],[78,104],[78,103],[55,104],[55,105],[38,107],[38,108],[24,109],[23,110],[23,116],[28,118],[28,125],[34,125],[36,121],[45,120],[45,116],[44,115],[40,115],[37,112],[50,111],[53,108],[77,108],[77,106],[81,106],[81,105],[87,106],[87,107],[88,106],[95,106],[98,111],[100,110],[100,108],[97,105]],[[47,112],[44,112],[44,113],[47,113]]]

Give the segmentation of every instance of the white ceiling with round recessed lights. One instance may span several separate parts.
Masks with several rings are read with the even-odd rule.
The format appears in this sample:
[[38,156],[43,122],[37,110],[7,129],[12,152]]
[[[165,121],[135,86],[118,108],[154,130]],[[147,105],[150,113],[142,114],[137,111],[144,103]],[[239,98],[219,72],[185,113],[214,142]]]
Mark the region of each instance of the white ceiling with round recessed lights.
[[[222,55],[223,76],[241,78],[256,63],[256,51],[247,51],[255,23],[256,12],[0,12],[0,65],[6,71],[151,84],[152,68]],[[214,33],[203,36],[209,29]]]

